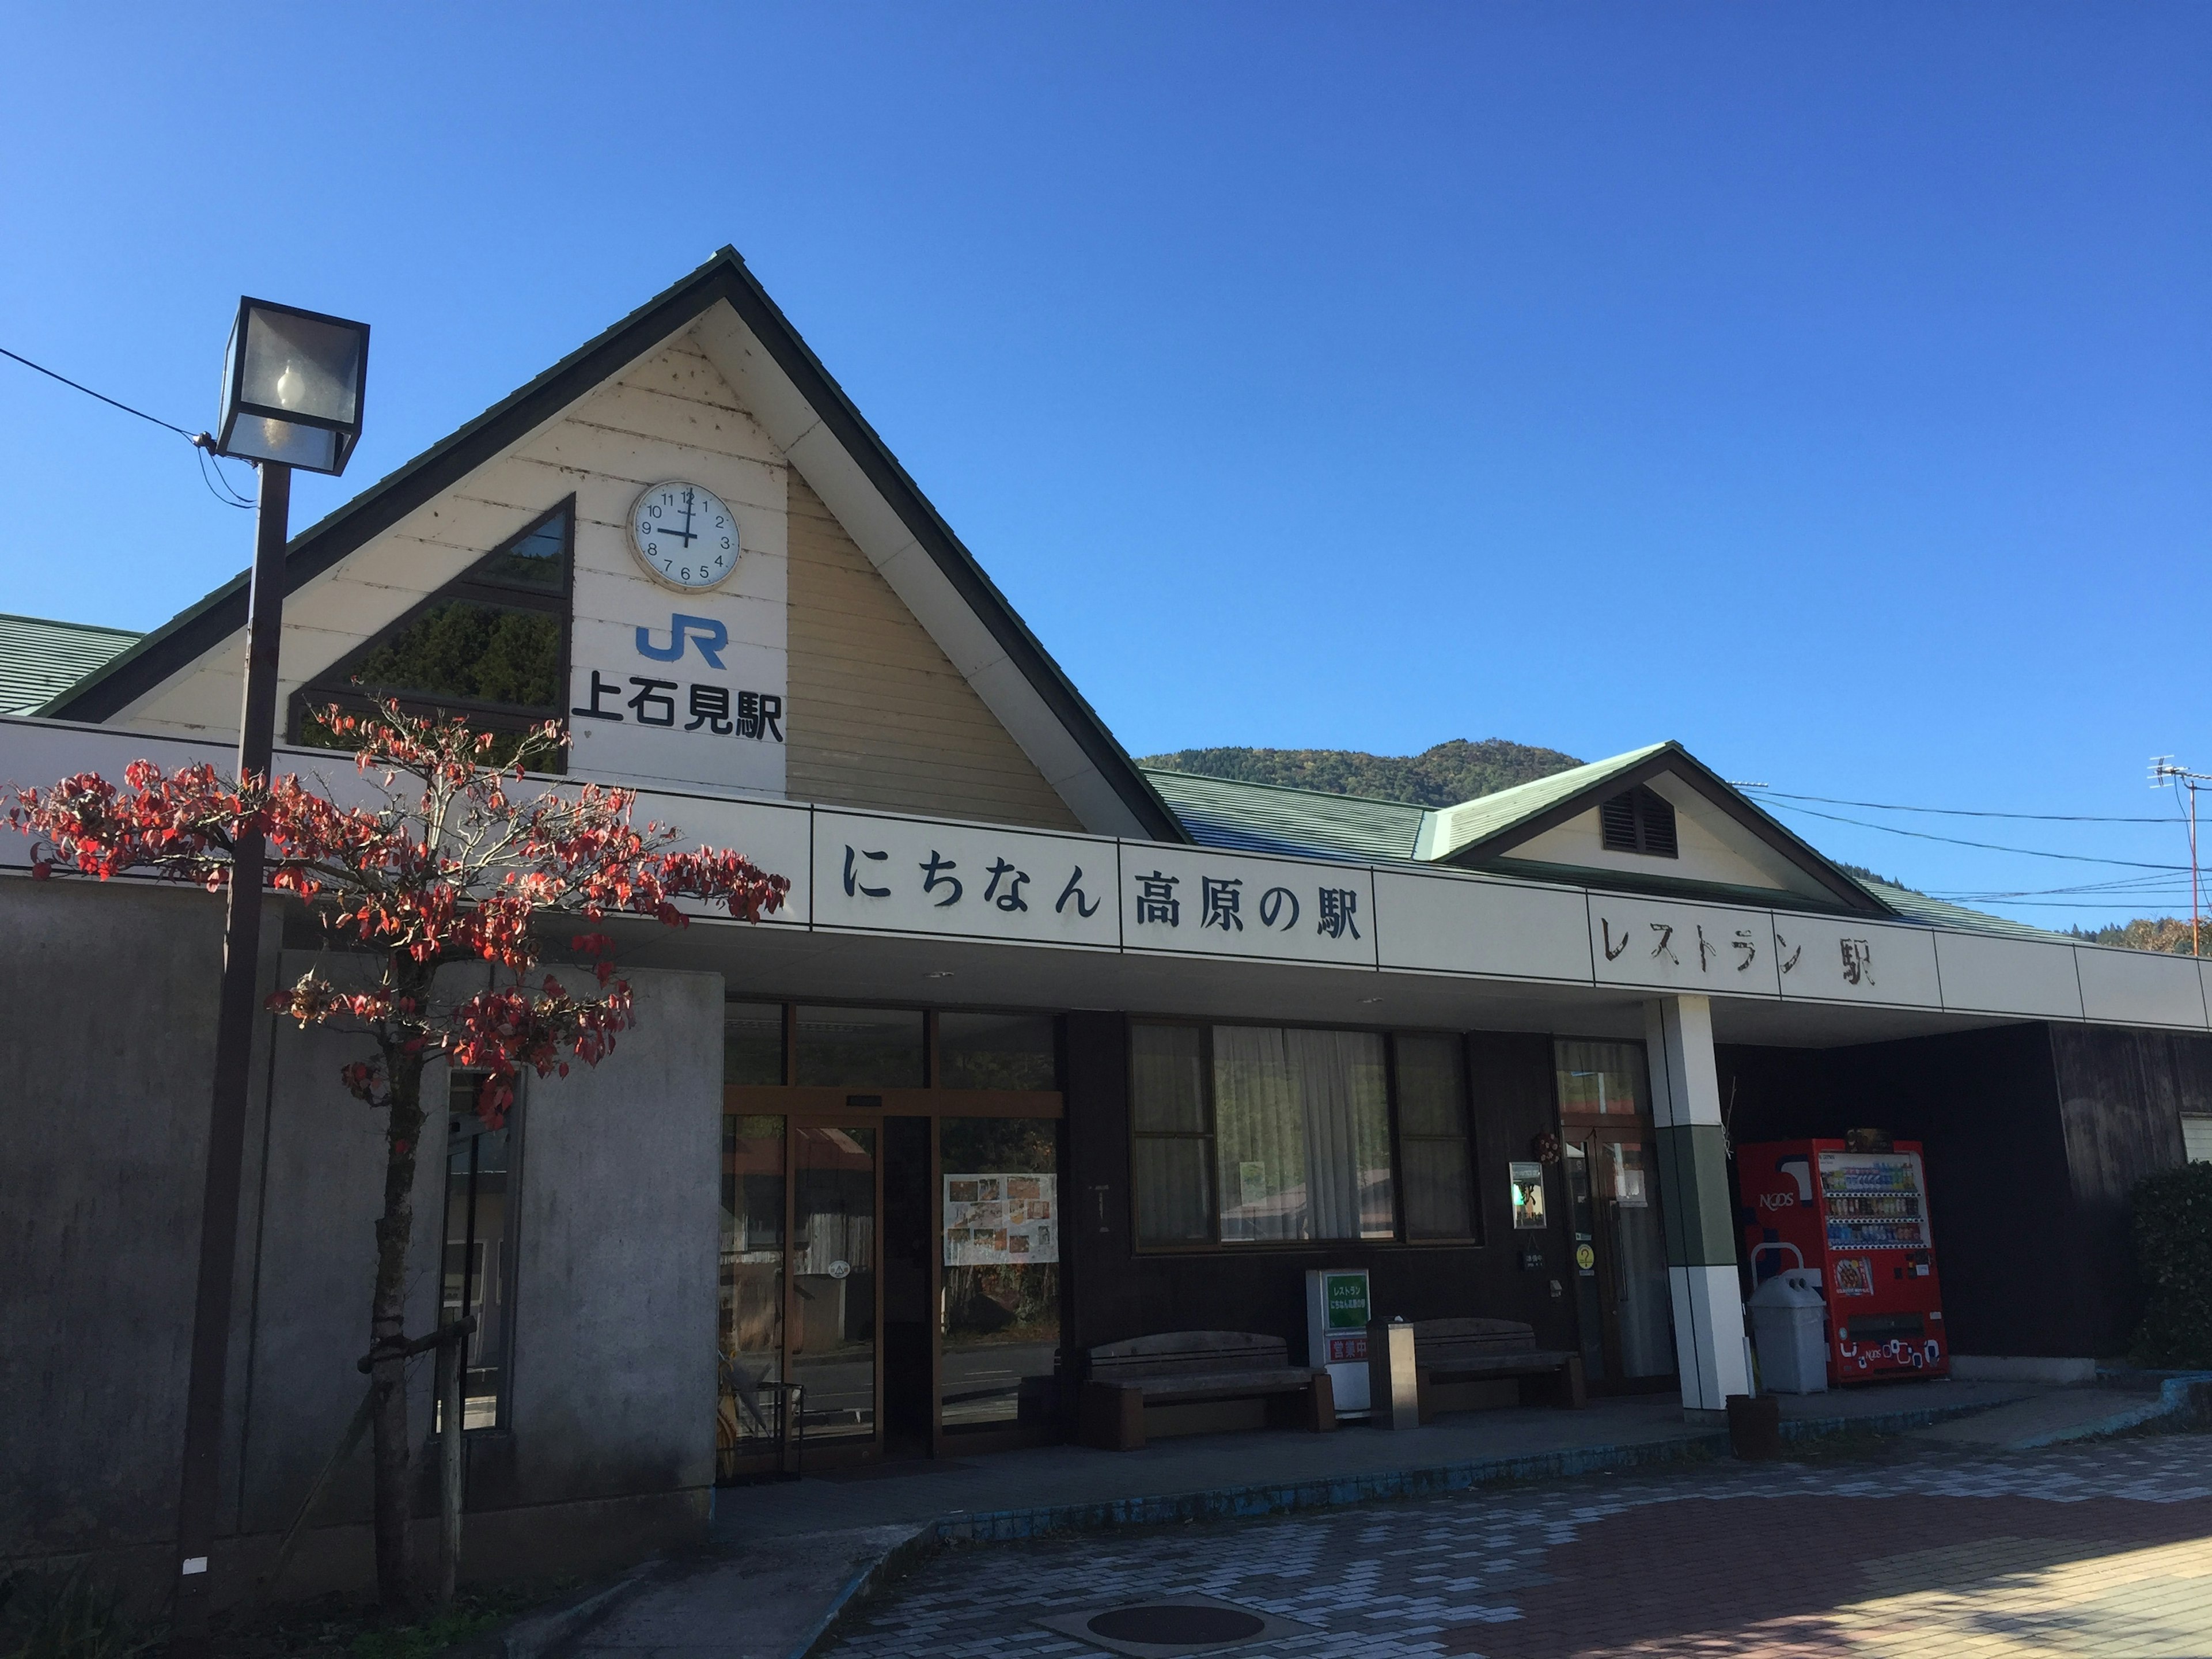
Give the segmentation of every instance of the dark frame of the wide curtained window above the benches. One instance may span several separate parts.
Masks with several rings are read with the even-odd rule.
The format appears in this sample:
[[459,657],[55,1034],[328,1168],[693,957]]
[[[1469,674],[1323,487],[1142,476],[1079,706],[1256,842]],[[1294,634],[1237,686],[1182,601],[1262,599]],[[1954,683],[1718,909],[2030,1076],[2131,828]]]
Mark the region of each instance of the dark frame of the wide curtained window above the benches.
[[[1124,1073],[1128,1088],[1124,1097],[1124,1141],[1128,1157],[1128,1239],[1130,1252],[1139,1256],[1248,1256],[1254,1252],[1305,1252],[1316,1250],[1469,1250],[1486,1243],[1482,1228],[1482,1166],[1475,1146],[1473,1075],[1467,1053],[1467,1033],[1447,1026],[1374,1026],[1343,1020],[1206,1020],[1188,1013],[1130,1013],[1124,1042]],[[1208,1243],[1144,1243],[1137,1214],[1137,1026],[1197,1026],[1199,1040],[1199,1086],[1206,1099],[1206,1206],[1214,1237]],[[1254,1239],[1250,1243],[1228,1243],[1221,1239],[1221,1164],[1219,1130],[1214,1124],[1214,1026],[1259,1026],[1272,1031],[1358,1031],[1383,1037],[1385,1110],[1389,1121],[1391,1159],[1391,1232],[1387,1239]],[[1460,1124],[1467,1146],[1467,1206],[1473,1232],[1455,1239],[1411,1239],[1405,1228],[1405,1135],[1398,1126],[1398,1037],[1449,1037],[1460,1053]],[[1146,1130],[1144,1139],[1201,1139],[1190,1130]],[[1416,1137],[1425,1139],[1425,1137]],[[1442,1137],[1438,1137],[1442,1139]]]

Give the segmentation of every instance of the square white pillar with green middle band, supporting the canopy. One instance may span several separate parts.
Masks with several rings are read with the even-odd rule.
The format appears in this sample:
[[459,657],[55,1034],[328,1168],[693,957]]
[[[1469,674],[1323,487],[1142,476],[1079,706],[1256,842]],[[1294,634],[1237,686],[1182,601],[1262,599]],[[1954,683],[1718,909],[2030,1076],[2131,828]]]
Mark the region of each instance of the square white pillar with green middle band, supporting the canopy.
[[1681,1409],[1692,1422],[1721,1420],[1728,1396],[1750,1394],[1752,1378],[1736,1283],[1736,1206],[1721,1137],[1721,1075],[1712,1060],[1712,1002],[1692,995],[1648,1002],[1644,1031]]

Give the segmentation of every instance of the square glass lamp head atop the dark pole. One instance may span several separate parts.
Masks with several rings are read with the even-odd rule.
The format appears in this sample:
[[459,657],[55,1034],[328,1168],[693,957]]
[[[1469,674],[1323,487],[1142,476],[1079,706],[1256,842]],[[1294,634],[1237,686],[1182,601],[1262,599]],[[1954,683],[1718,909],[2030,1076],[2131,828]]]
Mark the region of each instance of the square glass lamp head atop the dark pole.
[[223,352],[215,451],[343,473],[361,438],[369,325],[241,299]]

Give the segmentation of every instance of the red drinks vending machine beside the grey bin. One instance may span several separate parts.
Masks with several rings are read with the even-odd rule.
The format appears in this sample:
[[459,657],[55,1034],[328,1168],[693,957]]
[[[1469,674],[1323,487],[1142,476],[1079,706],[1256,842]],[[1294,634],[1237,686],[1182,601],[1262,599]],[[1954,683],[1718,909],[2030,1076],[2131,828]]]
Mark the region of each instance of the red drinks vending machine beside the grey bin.
[[1739,1146],[1736,1188],[1752,1283],[1790,1267],[1820,1274],[1829,1383],[1951,1371],[1920,1141],[1885,1152],[1845,1141]]

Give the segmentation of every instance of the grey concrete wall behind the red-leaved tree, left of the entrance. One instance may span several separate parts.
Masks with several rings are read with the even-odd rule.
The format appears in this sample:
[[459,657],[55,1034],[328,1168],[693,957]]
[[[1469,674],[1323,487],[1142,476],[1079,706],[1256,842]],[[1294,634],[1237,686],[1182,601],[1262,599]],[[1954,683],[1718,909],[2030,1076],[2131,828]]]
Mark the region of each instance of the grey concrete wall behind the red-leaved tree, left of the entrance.
[[[221,905],[0,883],[0,1557],[173,1571]],[[312,960],[265,940],[268,982]],[[482,969],[453,969],[456,989]],[[630,973],[639,1026],[529,1079],[518,1117],[509,1422],[471,1433],[476,1577],[595,1571],[695,1537],[714,1471],[721,980]],[[117,998],[115,987],[124,987]],[[270,1022],[254,1062],[217,1599],[261,1571],[361,1402],[383,1119],[338,1088],[361,1040]],[[442,1099],[434,1073],[427,1093]],[[436,1321],[442,1117],[418,1166],[407,1329]],[[411,1427],[429,1433],[429,1363]],[[431,1513],[425,1469],[418,1513]],[[365,1586],[369,1458],[281,1593]],[[429,1555],[425,1533],[422,1555]]]

